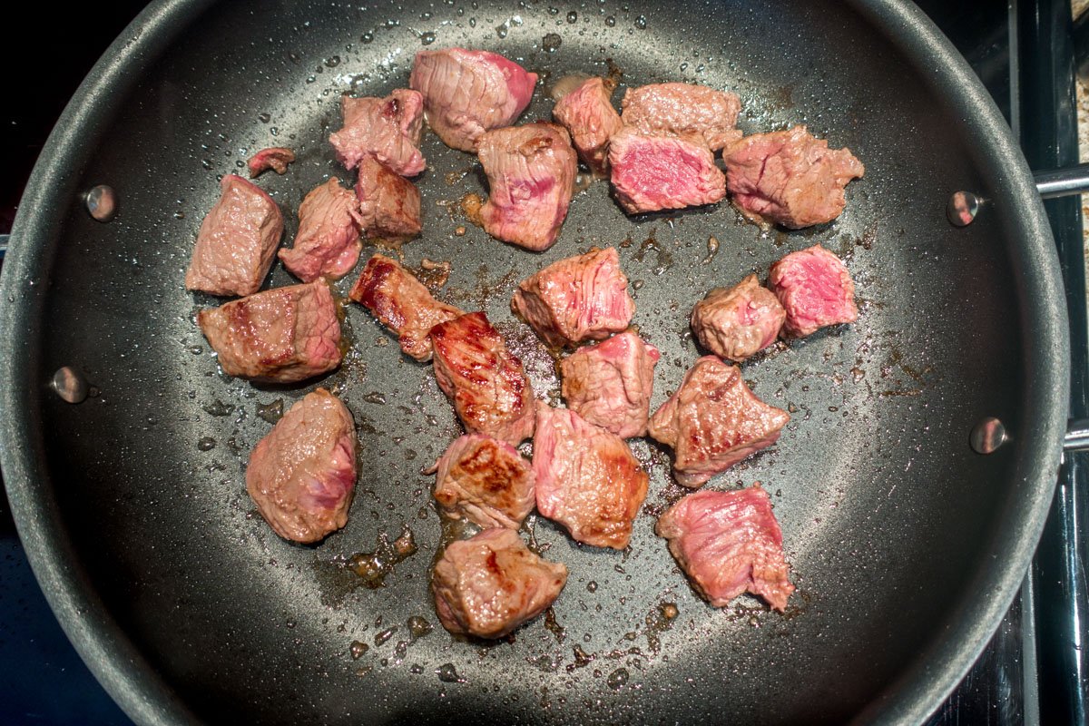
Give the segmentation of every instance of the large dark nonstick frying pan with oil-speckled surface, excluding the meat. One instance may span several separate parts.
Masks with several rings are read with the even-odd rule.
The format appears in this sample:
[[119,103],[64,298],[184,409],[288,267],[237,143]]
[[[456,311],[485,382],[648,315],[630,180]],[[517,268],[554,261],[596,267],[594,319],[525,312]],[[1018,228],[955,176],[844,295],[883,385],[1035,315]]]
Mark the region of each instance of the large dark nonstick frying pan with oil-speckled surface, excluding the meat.
[[[216,300],[182,283],[217,177],[293,147],[291,171],[260,180],[290,238],[303,195],[347,176],[326,143],[340,95],[403,86],[415,50],[445,46],[502,52],[546,86],[616,67],[625,86],[732,89],[746,132],[807,123],[866,163],[843,217],[791,233],[725,205],[627,218],[594,184],[533,255],[458,218],[478,168],[429,135],[425,234],[402,250],[450,260],[440,296],[486,310],[554,398],[553,361],[510,294],[555,259],[616,245],[634,322],[662,350],[652,406],[699,355],[686,319],[707,290],[817,243],[843,256],[858,322],[746,364],[793,419],[709,484],[772,494],[798,586],[785,615],[692,592],[652,531],[682,492],[668,453],[640,441],[651,488],[631,549],[580,547],[531,520],[525,536],[571,569],[553,615],[507,641],[455,640],[429,600],[451,533],[420,470],[458,426],[427,367],[348,306],[353,344],[326,379],[219,373],[193,324]],[[524,119],[550,108],[539,90]],[[83,196],[99,184],[119,202],[107,223]],[[957,229],[944,208],[960,189],[988,202]],[[87,78],[20,208],[0,283],[3,476],[60,622],[138,723],[918,722],[993,632],[1051,501],[1068,385],[1059,280],[1008,128],[906,2],[157,2]],[[268,285],[290,282],[278,267]],[[83,403],[50,387],[62,367],[88,386]],[[348,526],[303,547],[261,521],[243,473],[270,411],[316,385],[355,415],[360,476]],[[1008,440],[981,455],[969,435],[988,417]],[[365,587],[345,563],[405,527],[418,552]]]

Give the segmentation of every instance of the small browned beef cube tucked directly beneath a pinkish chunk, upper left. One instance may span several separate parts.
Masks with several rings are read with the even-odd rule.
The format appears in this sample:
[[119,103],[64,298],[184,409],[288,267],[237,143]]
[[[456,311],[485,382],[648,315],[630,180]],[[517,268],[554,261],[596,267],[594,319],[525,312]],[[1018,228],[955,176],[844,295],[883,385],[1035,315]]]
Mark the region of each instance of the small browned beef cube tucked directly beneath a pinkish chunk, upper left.
[[419,234],[419,189],[372,157],[359,161],[355,196],[359,224],[374,239],[407,239]]

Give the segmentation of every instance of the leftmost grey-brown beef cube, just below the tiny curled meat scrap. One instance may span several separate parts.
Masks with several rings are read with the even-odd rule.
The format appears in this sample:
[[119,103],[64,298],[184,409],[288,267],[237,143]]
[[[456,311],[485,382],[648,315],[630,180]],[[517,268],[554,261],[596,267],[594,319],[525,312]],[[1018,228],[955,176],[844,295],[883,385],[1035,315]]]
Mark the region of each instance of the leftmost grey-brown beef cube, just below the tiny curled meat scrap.
[[185,290],[253,295],[276,259],[283,216],[272,197],[236,174],[224,176],[220,189],[200,223]]

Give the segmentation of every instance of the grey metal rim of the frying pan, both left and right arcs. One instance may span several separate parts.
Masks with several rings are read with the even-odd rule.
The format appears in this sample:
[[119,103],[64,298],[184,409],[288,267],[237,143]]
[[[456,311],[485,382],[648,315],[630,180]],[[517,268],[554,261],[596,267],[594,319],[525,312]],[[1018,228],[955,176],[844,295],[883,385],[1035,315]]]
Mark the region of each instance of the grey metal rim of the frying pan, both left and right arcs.
[[[44,305],[52,237],[74,198],[82,161],[93,152],[83,139],[109,123],[110,98],[123,97],[169,44],[189,27],[215,0],[157,0],[110,46],[81,85],[51,133],[27,184],[12,230],[12,249],[0,275],[0,374],[9,385],[0,391],[0,467],[12,515],[35,577],[91,673],[134,722],[198,723],[176,693],[149,666],[97,599],[78,567],[60,518],[51,510],[48,467],[40,455],[38,404],[44,394],[37,379],[33,320]],[[1053,499],[1069,399],[1069,341],[1059,259],[1043,205],[1013,134],[967,62],[933,23],[907,0],[851,0],[849,5],[915,61],[920,76],[943,93],[972,126],[992,168],[991,179],[1008,196],[1010,218],[1020,225],[1023,244],[1012,262],[1020,272],[1018,297],[1021,330],[1032,331],[1035,349],[1025,361],[1027,420],[1040,421],[1025,444],[1011,476],[1025,484],[1010,494],[1006,530],[1014,537],[1000,543],[994,562],[981,566],[980,588],[960,603],[971,612],[950,618],[953,627],[926,657],[917,657],[894,684],[857,715],[865,723],[919,723],[949,696],[979,657],[1008,610],[1031,562]],[[926,63],[921,61],[926,59]],[[955,91],[955,93],[953,93]],[[65,194],[59,194],[64,192]],[[1028,294],[1031,291],[1032,294]],[[1013,506],[1018,505],[1019,506]],[[1015,566],[1011,567],[1010,563]]]

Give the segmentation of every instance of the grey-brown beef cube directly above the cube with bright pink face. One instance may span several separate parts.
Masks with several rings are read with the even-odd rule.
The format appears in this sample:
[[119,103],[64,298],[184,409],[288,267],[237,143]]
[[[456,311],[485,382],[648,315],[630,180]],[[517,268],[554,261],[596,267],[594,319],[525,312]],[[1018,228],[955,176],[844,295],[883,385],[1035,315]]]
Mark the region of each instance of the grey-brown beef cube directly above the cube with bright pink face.
[[742,137],[734,127],[741,99],[707,86],[659,83],[628,88],[622,107],[626,126],[647,134],[697,134],[712,151]]

